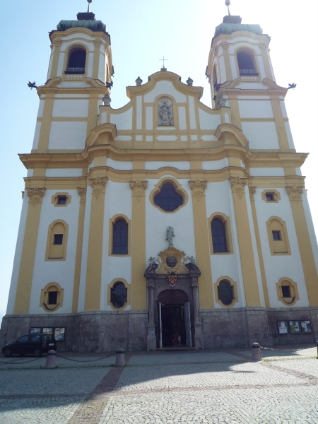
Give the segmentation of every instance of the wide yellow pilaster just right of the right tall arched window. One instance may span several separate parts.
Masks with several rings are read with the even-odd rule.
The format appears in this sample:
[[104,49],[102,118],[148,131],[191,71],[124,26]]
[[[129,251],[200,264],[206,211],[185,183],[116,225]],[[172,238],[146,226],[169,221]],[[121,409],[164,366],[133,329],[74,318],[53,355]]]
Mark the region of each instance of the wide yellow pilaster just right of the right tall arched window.
[[257,285],[257,271],[255,268],[251,228],[249,227],[249,216],[247,214],[244,189],[246,182],[245,179],[240,179],[240,177],[230,177],[229,179],[233,194],[246,305],[247,307],[259,307],[261,306],[261,300]]

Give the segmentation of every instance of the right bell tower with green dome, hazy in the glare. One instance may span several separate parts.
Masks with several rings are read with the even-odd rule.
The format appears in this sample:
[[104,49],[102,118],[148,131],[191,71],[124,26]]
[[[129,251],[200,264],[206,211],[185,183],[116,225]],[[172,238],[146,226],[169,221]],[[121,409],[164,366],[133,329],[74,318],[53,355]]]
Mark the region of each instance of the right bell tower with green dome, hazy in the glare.
[[[225,4],[230,6],[230,0]],[[288,90],[276,84],[270,41],[260,25],[242,23],[229,11],[216,27],[206,68],[212,105],[216,110],[230,107],[230,123],[242,129],[250,148],[294,151],[283,101]],[[257,137],[264,132],[267,140]]]

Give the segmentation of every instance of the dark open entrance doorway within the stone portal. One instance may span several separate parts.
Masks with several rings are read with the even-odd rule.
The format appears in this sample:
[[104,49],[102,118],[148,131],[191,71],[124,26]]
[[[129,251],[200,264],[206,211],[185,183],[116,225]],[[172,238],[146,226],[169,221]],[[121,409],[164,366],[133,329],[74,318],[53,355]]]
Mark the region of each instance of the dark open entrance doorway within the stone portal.
[[185,346],[184,305],[161,305],[163,347]]

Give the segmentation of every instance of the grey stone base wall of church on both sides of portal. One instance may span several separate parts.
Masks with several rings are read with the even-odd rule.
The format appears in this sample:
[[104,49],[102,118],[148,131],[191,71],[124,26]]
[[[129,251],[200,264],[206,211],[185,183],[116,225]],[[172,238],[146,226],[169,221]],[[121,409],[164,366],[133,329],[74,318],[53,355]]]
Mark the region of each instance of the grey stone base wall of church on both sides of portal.
[[[266,310],[242,308],[200,310],[204,347],[245,348],[257,341],[262,346],[314,343],[318,339],[318,307]],[[277,321],[310,319],[311,334],[278,334]],[[80,314],[6,315],[2,319],[0,347],[30,332],[30,327],[65,326],[59,351],[145,351],[147,311],[82,312]]]

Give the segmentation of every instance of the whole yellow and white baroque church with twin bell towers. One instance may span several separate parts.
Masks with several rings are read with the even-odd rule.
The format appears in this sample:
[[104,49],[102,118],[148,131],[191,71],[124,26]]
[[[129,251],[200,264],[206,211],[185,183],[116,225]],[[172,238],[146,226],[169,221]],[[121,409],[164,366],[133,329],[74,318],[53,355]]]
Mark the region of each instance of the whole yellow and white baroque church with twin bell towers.
[[[226,4],[229,1],[225,2]],[[259,25],[225,16],[203,88],[161,71],[110,105],[94,13],[61,20],[33,147],[1,342],[59,351],[247,347],[318,336],[318,249]]]

